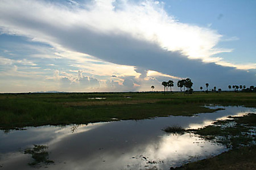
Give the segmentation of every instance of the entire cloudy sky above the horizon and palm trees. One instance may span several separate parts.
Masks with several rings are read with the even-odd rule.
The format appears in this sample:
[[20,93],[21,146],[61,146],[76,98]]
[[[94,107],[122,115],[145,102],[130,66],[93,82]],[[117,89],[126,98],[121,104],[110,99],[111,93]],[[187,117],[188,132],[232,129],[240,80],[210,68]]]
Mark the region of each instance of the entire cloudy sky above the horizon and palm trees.
[[255,0],[1,0],[0,92],[256,85]]

